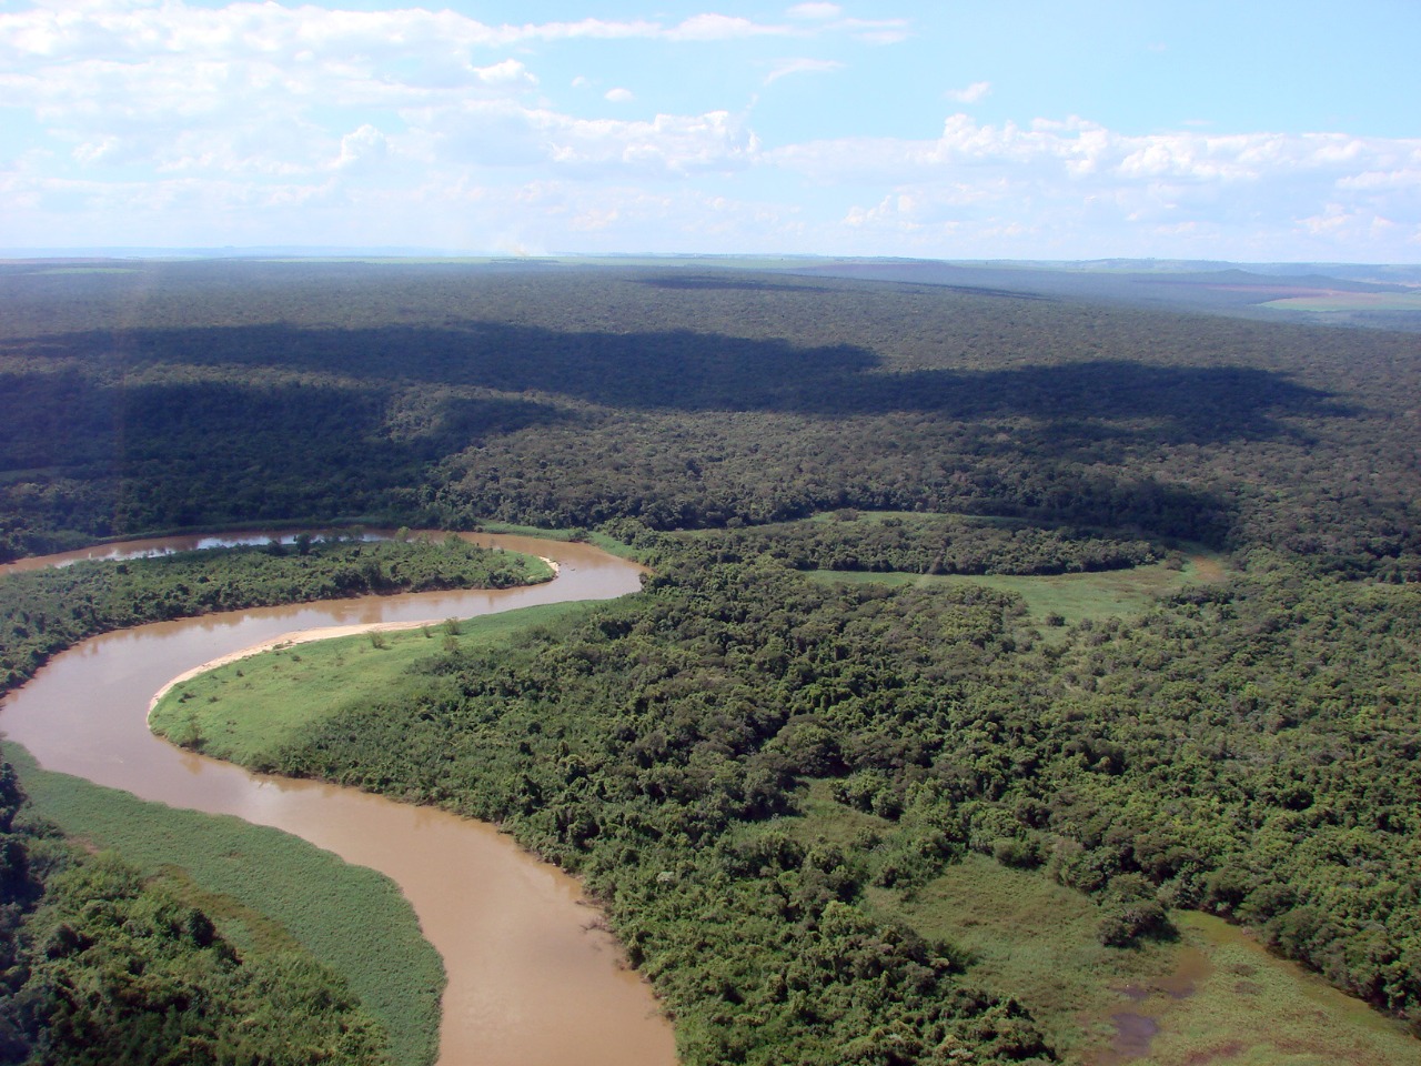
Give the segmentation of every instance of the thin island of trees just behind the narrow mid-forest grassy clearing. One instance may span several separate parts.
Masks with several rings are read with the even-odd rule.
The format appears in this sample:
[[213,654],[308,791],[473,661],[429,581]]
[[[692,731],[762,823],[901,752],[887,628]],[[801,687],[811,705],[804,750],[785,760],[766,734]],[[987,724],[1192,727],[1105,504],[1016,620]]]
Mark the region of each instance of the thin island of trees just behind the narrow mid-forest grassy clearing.
[[769,554],[796,570],[905,574],[1074,574],[1155,563],[1167,549],[1147,540],[1040,529],[955,515],[860,515],[730,529],[713,543],[729,561]]

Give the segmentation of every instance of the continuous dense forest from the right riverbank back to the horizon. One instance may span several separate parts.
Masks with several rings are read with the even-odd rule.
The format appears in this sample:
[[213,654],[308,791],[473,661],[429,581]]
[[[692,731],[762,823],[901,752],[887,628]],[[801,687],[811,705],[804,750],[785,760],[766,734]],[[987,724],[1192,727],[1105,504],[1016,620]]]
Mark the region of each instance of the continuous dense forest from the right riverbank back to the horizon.
[[[1050,1060],[868,904],[966,853],[1088,894],[1103,944],[1229,915],[1421,1026],[1415,335],[648,267],[14,264],[0,293],[11,556],[253,519],[645,554],[641,596],[271,758],[584,874],[688,1063]],[[1052,640],[986,587],[799,573],[1198,546],[1233,576]],[[880,829],[787,831],[826,785]]]

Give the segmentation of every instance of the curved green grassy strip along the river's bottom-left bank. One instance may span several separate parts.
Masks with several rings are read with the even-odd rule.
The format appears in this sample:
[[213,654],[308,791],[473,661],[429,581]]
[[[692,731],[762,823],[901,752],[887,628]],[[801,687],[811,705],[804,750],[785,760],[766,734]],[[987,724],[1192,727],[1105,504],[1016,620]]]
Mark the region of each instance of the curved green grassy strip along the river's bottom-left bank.
[[18,745],[4,745],[4,758],[40,817],[166,878],[239,949],[300,944],[385,1026],[394,1062],[433,1060],[443,964],[389,878],[274,829],[41,770]]

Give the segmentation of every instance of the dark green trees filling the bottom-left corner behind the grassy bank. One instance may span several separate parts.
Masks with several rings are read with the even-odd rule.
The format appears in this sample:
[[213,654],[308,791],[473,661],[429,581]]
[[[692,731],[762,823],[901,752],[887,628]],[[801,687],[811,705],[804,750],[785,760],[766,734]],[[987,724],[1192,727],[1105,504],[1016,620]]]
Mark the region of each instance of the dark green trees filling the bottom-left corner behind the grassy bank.
[[21,814],[0,768],[0,1062],[389,1066],[381,1028],[298,948],[237,952],[200,910]]

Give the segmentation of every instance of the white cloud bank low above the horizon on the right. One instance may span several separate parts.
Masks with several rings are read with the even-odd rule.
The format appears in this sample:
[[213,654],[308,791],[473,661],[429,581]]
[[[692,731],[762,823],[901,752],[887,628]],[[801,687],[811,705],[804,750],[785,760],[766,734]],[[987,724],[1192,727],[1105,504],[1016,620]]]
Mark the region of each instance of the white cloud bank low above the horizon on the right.
[[[882,249],[905,242],[898,253],[973,233],[1036,242],[1022,254],[1096,242],[1125,249],[1111,254],[1337,257],[1400,249],[1397,219],[1421,208],[1421,139],[1340,134],[1134,136],[1074,118],[1022,128],[953,115],[936,139],[790,145],[763,163],[860,190],[843,223]],[[1312,256],[1287,252],[1304,239]]]

